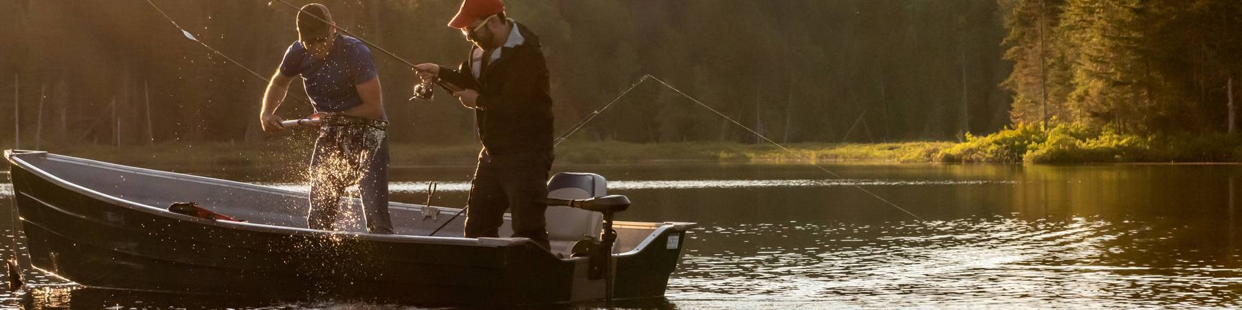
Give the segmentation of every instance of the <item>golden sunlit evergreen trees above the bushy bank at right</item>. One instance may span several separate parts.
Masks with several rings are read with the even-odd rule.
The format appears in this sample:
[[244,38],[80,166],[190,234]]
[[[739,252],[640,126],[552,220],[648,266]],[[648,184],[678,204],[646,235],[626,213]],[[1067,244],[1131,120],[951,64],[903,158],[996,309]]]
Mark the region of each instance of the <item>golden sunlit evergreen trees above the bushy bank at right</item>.
[[1015,123],[1233,133],[1242,1],[1004,0],[1001,10]]

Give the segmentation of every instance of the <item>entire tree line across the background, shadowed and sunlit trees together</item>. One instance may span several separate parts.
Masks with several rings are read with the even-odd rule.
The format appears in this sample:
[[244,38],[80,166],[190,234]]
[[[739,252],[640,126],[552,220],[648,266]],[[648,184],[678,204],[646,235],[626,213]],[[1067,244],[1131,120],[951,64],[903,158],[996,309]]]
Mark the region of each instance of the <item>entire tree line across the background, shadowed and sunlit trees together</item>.
[[[296,11],[278,2],[154,2],[261,74],[274,72],[297,37]],[[445,26],[457,1],[320,2],[339,26],[412,62],[466,58],[461,33]],[[1222,130],[1208,125],[1221,124],[1221,81],[1237,72],[1228,57],[1237,51],[1236,2],[1104,2],[510,0],[508,11],[544,45],[558,130],[643,74],[787,143],[949,140],[1042,120],[1038,103],[1053,122],[1138,130],[1180,128],[1163,124],[1195,115],[1205,119],[1200,130]],[[147,1],[0,5],[9,21],[0,27],[0,93],[16,94],[0,99],[0,119],[19,119],[24,145],[35,128],[48,145],[265,140],[265,83],[186,40]],[[394,141],[473,141],[472,113],[445,93],[407,102],[412,72],[373,53]],[[294,84],[291,97],[304,98]],[[309,112],[297,100],[282,108],[286,117]],[[14,131],[0,126],[0,140],[11,145]],[[652,82],[570,139],[756,141]]]

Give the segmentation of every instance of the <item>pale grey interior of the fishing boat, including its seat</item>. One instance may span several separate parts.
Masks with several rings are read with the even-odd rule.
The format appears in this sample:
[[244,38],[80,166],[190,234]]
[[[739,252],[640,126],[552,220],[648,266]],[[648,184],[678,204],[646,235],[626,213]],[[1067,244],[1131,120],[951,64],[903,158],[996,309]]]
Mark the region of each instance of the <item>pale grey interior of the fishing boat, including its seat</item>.
[[[111,196],[128,201],[132,207],[168,212],[174,202],[196,202],[199,206],[248,223],[304,228],[307,227],[308,193],[227,180],[165,172],[114,165],[41,151],[15,151],[15,161],[25,162],[45,176],[58,179],[65,186],[88,195]],[[37,174],[37,172],[36,172]],[[548,196],[582,200],[607,195],[607,181],[595,174],[561,172],[549,180]],[[337,229],[365,234],[361,202],[343,198],[348,208]],[[138,205],[138,206],[133,206]],[[465,215],[453,218],[460,208],[428,207],[390,202],[395,234],[460,238]],[[170,215],[171,216],[171,215]],[[599,241],[602,215],[570,207],[549,206],[546,211],[551,252],[571,257],[573,246],[584,238]],[[663,223],[616,222],[617,242],[614,253],[626,253]],[[442,228],[440,228],[442,227]],[[509,215],[504,216],[501,237],[512,234]]]

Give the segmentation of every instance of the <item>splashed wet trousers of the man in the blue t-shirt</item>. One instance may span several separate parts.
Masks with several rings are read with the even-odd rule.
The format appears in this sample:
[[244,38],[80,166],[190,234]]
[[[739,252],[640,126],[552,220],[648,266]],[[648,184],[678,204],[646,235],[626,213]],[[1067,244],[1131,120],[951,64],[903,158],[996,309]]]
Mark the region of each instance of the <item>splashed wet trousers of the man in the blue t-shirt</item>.
[[340,217],[345,188],[358,184],[370,233],[392,233],[388,211],[388,138],[361,125],[319,129],[310,156],[310,212],[307,227],[332,231]]

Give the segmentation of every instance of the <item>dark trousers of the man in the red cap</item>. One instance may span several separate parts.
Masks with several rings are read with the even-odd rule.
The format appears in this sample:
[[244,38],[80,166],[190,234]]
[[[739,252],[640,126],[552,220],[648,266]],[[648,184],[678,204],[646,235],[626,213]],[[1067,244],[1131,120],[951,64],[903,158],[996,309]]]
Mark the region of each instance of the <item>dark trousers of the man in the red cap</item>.
[[548,197],[548,171],[551,170],[551,151],[519,154],[478,155],[478,167],[466,212],[466,237],[499,237],[504,223],[504,211],[513,215],[513,237],[529,238],[539,246],[548,244],[546,205],[539,200]]

